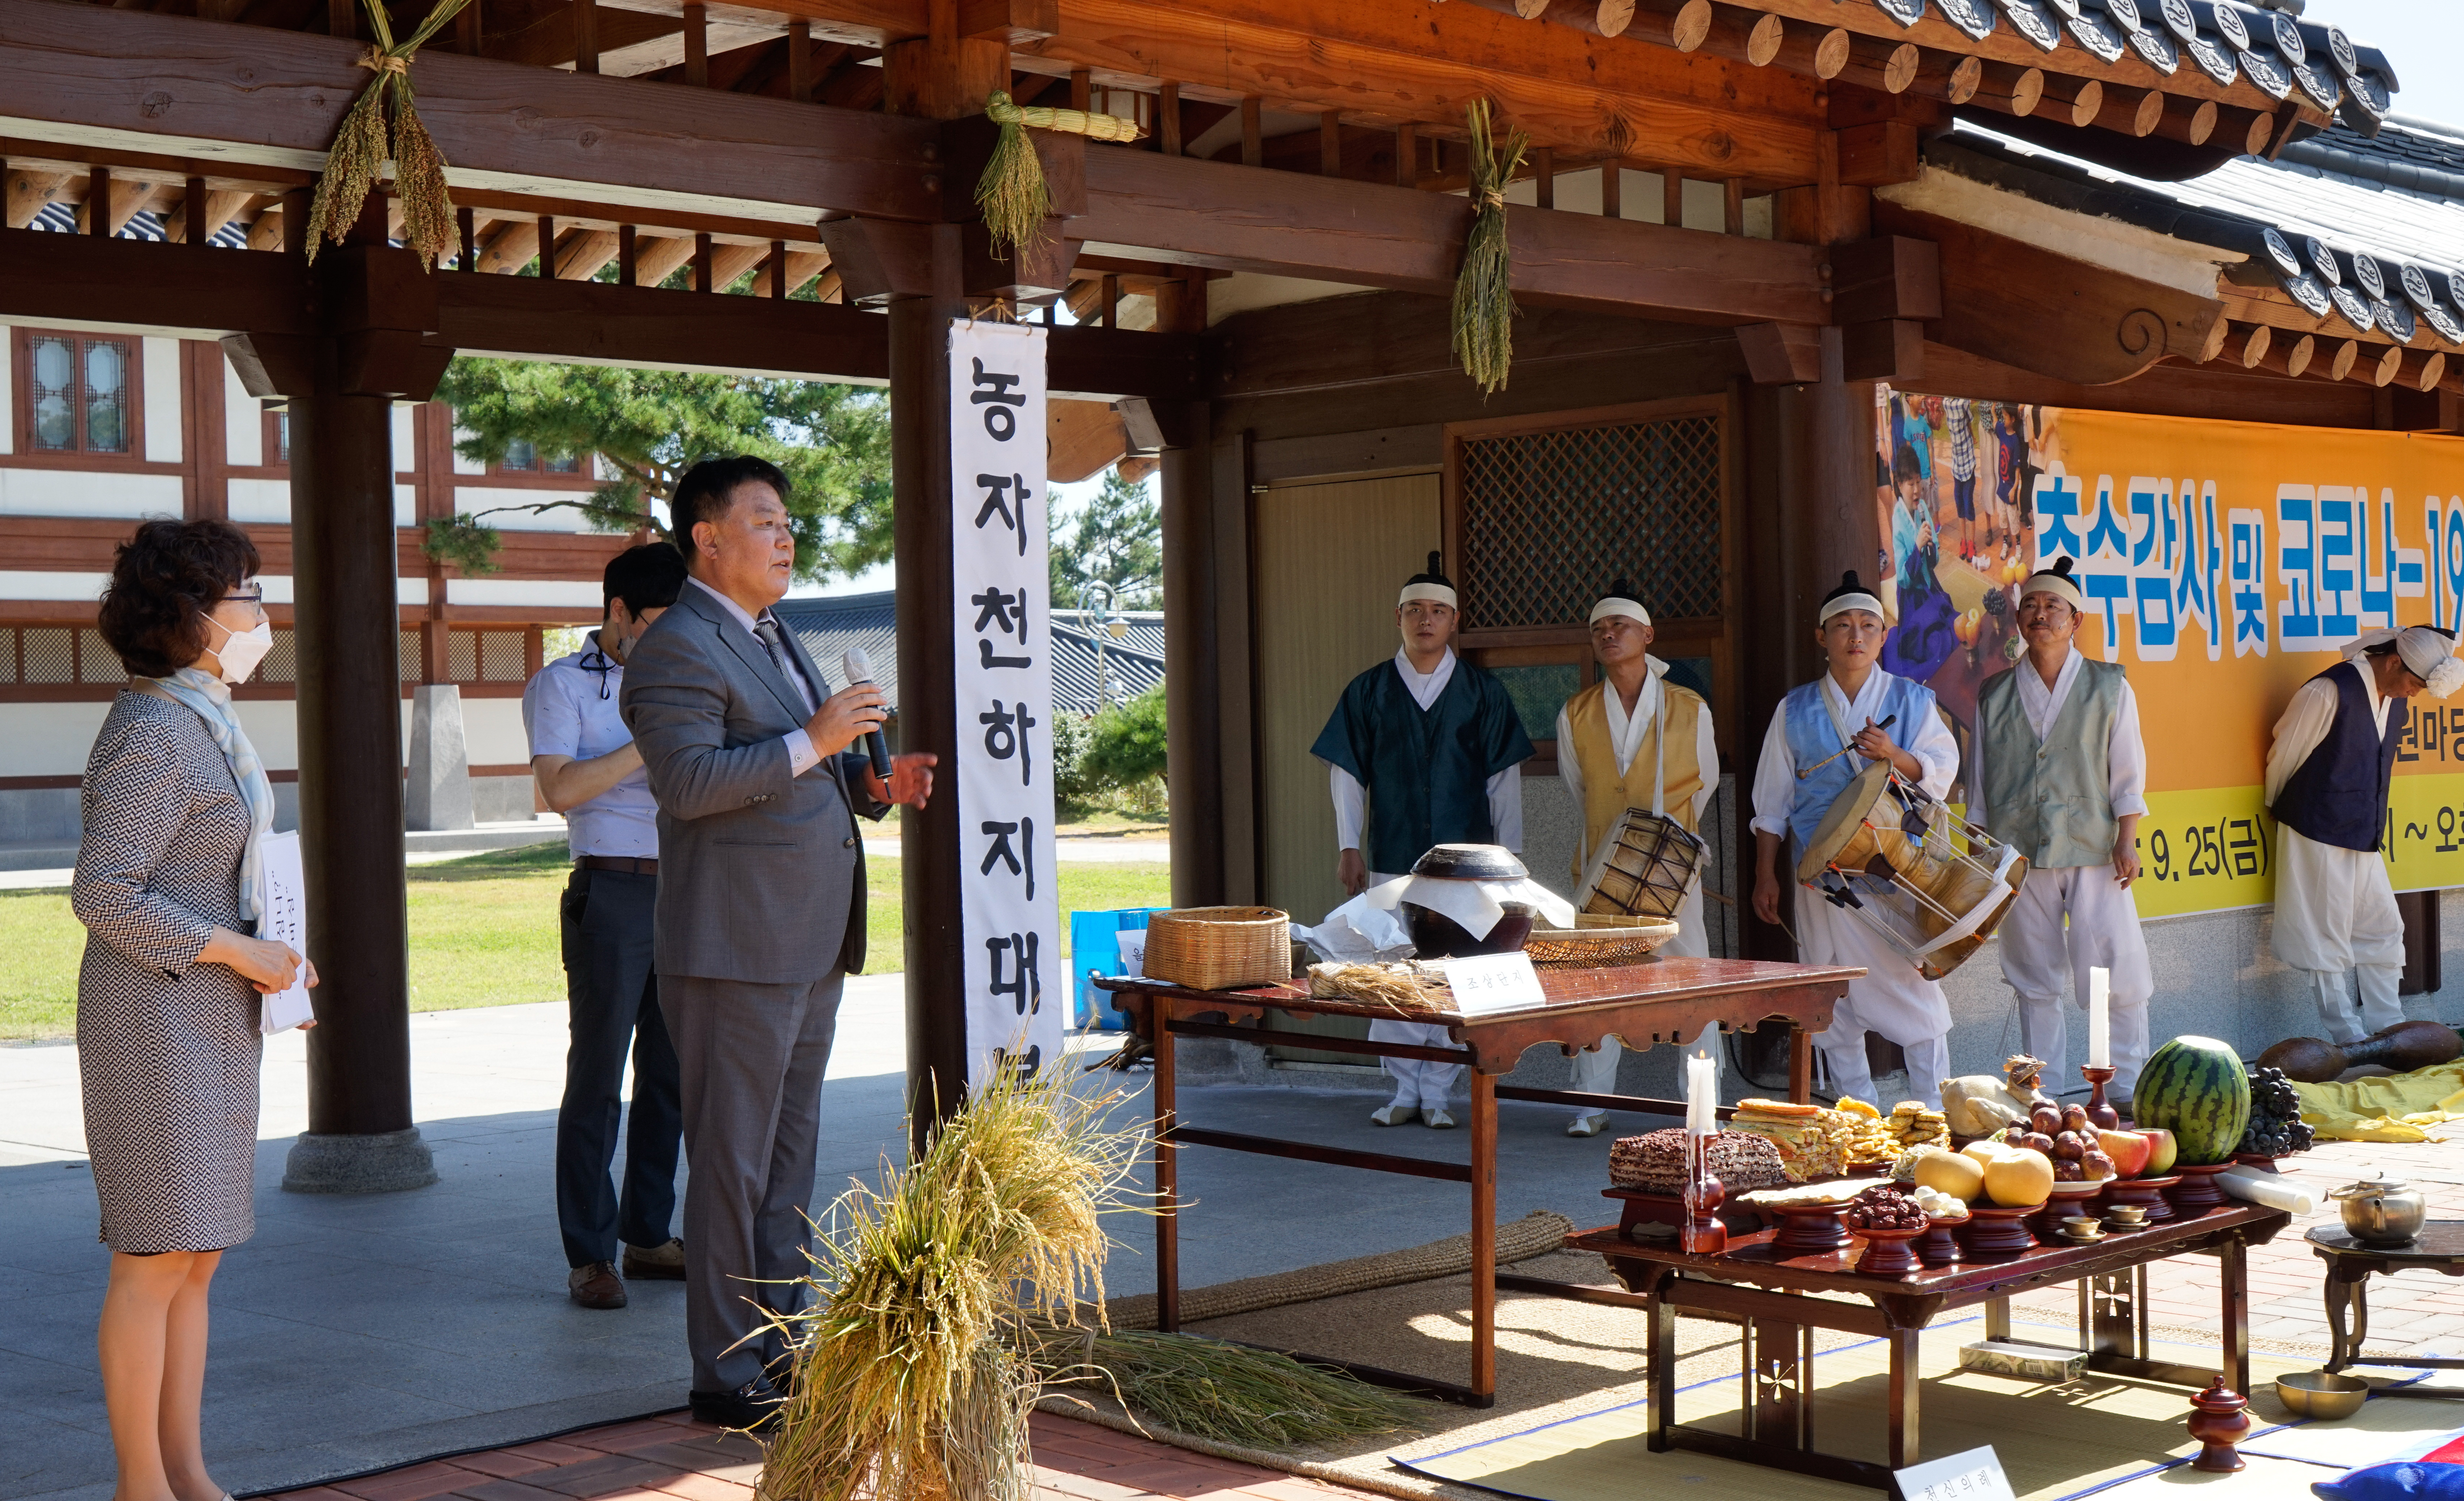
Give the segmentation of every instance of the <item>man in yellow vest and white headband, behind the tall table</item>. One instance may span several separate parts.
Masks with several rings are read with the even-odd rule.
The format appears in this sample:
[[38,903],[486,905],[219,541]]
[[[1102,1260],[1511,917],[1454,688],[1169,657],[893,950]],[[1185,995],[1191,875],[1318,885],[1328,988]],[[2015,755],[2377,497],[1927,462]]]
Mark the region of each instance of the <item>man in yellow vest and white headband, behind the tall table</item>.
[[[1592,858],[1616,838],[1626,808],[1651,808],[1688,831],[1700,831],[1703,811],[1720,791],[1720,752],[1712,747],[1710,705],[1690,688],[1668,683],[1668,663],[1651,656],[1651,611],[1626,579],[1592,606],[1592,656],[1604,678],[1557,710],[1557,776],[1582,808],[1582,845],[1574,850],[1574,880],[1584,880]],[[1574,907],[1589,900],[1574,892]],[[1678,937],[1661,954],[1710,954],[1703,934],[1703,882],[1685,892],[1678,907]],[[1720,1025],[1703,1028],[1688,1047],[1708,1047],[1720,1057]],[[1597,1052],[1574,1055],[1574,1092],[1614,1094],[1616,1060],[1624,1045],[1609,1035]],[[1609,1112],[1577,1109],[1567,1136],[1597,1136]]]

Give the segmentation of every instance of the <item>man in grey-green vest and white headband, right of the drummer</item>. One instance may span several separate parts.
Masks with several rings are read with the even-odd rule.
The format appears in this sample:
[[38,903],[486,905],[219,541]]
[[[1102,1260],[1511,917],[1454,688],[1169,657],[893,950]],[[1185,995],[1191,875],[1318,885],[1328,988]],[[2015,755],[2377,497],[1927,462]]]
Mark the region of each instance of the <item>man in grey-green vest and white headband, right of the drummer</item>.
[[2018,596],[2028,656],[1976,695],[1969,823],[2028,855],[2033,870],[2001,924],[2003,978],[2018,991],[2018,1038],[2045,1060],[2048,1087],[2072,1080],[2062,993],[2087,1008],[2087,971],[2112,971],[2114,1082],[2129,1104],[2149,1057],[2149,942],[2139,932],[2139,816],[2149,752],[2139,695],[2122,663],[2072,646],[2087,596],[2070,559],[2033,574]]

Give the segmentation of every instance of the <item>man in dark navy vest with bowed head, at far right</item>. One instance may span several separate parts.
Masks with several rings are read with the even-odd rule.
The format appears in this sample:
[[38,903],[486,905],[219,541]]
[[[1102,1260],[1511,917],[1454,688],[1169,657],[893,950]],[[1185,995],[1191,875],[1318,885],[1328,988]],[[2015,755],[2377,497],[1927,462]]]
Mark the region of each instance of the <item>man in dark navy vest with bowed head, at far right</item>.
[[[2358,1043],[2405,1020],[2405,917],[2378,848],[2388,781],[2415,693],[2447,698],[2464,683],[2454,631],[2368,631],[2343,661],[2294,690],[2267,749],[2267,806],[2277,818],[2277,959],[2306,971],[2319,1025]],[[2353,1020],[2346,971],[2361,976]]]

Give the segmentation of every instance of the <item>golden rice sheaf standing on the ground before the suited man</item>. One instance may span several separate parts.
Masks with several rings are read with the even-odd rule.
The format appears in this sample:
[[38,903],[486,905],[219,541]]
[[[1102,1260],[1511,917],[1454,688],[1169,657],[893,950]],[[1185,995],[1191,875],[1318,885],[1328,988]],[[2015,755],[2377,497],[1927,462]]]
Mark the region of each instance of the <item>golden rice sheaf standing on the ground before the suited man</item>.
[[813,1306],[774,1316],[793,1353],[769,1501],[1025,1501],[1040,1385],[1000,1331],[1104,1299],[1099,1215],[1126,1208],[1143,1124],[1121,1092],[1005,1060],[880,1188],[848,1188],[813,1257]]

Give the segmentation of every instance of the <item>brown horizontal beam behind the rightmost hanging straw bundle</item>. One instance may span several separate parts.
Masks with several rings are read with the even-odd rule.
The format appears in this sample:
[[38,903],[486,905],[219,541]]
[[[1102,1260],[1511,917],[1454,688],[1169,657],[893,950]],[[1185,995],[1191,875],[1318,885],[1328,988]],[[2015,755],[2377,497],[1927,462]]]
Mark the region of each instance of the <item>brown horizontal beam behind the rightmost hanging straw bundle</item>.
[[[1821,254],[1594,214],[1508,207],[1513,291],[1533,306],[1710,323],[1826,323]],[[1276,271],[1454,293],[1471,207],[1459,197],[1299,173],[1087,148],[1087,214],[1069,232],[1099,251],[1141,246],[1227,271]]]

